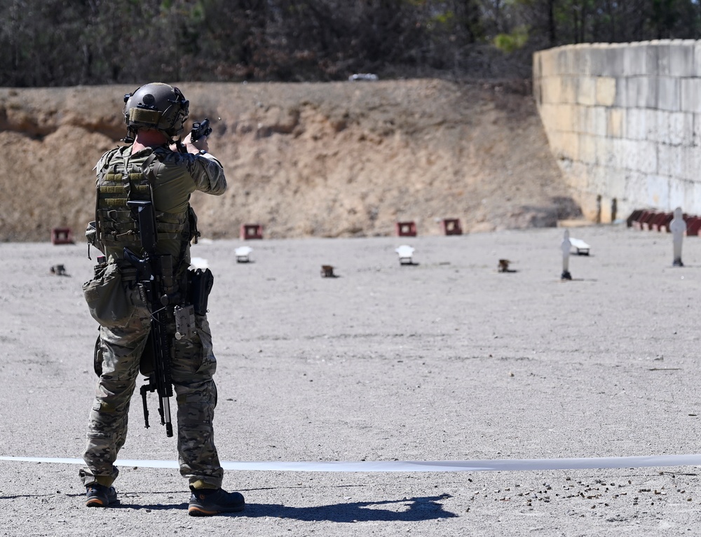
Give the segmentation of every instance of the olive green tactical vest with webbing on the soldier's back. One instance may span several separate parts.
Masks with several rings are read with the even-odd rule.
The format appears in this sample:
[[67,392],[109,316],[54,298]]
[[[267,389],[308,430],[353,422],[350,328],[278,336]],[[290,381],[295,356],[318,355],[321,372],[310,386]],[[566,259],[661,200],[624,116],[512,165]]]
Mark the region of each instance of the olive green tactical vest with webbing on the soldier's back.
[[[125,246],[139,255],[143,253],[137,218],[127,201],[154,201],[154,167],[167,153],[165,148],[156,148],[148,157],[132,158],[130,146],[123,146],[108,151],[100,159],[96,181],[95,243],[102,246],[103,253],[108,254],[109,251],[108,255],[122,258]],[[158,242],[179,243],[180,255],[175,263],[184,257],[195,221],[191,209],[182,214],[156,211]],[[196,230],[192,232],[196,236]]]

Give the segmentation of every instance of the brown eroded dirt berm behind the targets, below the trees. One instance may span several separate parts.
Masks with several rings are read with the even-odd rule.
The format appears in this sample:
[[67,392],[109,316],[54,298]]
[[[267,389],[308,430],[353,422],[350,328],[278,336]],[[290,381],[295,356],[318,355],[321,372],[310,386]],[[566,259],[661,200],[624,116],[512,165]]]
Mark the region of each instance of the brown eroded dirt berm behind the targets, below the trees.
[[[529,85],[440,80],[183,83],[191,120],[210,118],[223,199],[193,195],[203,236],[420,235],[555,225],[578,216]],[[125,135],[136,86],[0,89],[0,240],[76,240],[94,215],[100,155]],[[189,125],[188,125],[189,127]]]

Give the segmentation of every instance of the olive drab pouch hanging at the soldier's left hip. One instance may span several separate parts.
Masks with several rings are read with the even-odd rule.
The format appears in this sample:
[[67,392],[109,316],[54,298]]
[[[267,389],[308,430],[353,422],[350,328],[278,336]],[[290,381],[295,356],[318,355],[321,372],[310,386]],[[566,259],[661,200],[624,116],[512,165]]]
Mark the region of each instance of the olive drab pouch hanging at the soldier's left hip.
[[125,326],[134,305],[116,263],[95,265],[95,277],[83,284],[83,296],[93,319],[105,328]]

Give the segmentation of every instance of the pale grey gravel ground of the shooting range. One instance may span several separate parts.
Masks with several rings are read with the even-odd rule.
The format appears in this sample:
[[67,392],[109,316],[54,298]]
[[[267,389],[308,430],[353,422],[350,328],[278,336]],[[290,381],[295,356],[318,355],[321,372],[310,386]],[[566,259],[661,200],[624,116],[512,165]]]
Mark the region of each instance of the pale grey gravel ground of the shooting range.
[[[225,461],[693,454],[701,240],[620,225],[561,281],[562,228],[193,246],[215,273]],[[395,249],[414,246],[414,265]],[[93,251],[93,254],[95,251]],[[85,244],[0,244],[0,455],[79,457],[95,377]],[[498,272],[498,260],[514,272]],[[67,275],[50,267],[62,264]],[[336,278],[320,277],[333,265]],[[20,276],[21,275],[21,276]],[[149,400],[151,412],[155,398]],[[175,404],[175,403],[174,403]],[[175,459],[132,405],[123,459]],[[186,515],[176,470],[122,468],[86,509],[78,466],[0,462],[0,535],[700,534],[696,467],[462,473],[227,472],[241,515]]]

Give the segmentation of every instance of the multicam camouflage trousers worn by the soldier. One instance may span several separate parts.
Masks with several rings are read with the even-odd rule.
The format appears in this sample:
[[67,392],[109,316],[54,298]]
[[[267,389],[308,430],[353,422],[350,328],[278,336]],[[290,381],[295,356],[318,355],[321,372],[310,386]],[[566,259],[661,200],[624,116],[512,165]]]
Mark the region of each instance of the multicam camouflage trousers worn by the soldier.
[[[134,286],[126,292],[136,305],[134,314],[122,327],[100,327],[96,352],[97,358],[102,359],[102,375],[88,422],[88,445],[83,454],[87,468],[80,470],[84,485],[97,482],[109,486],[118,475],[114,461],[126,440],[129,403],[151,330],[149,309],[138,288]],[[198,315],[195,320],[196,335],[189,340],[172,339],[171,375],[177,400],[180,473],[190,484],[200,482],[200,486],[218,488],[222,486],[224,470],[219,465],[212,428],[217,404],[212,375],[217,362],[206,317]]]

